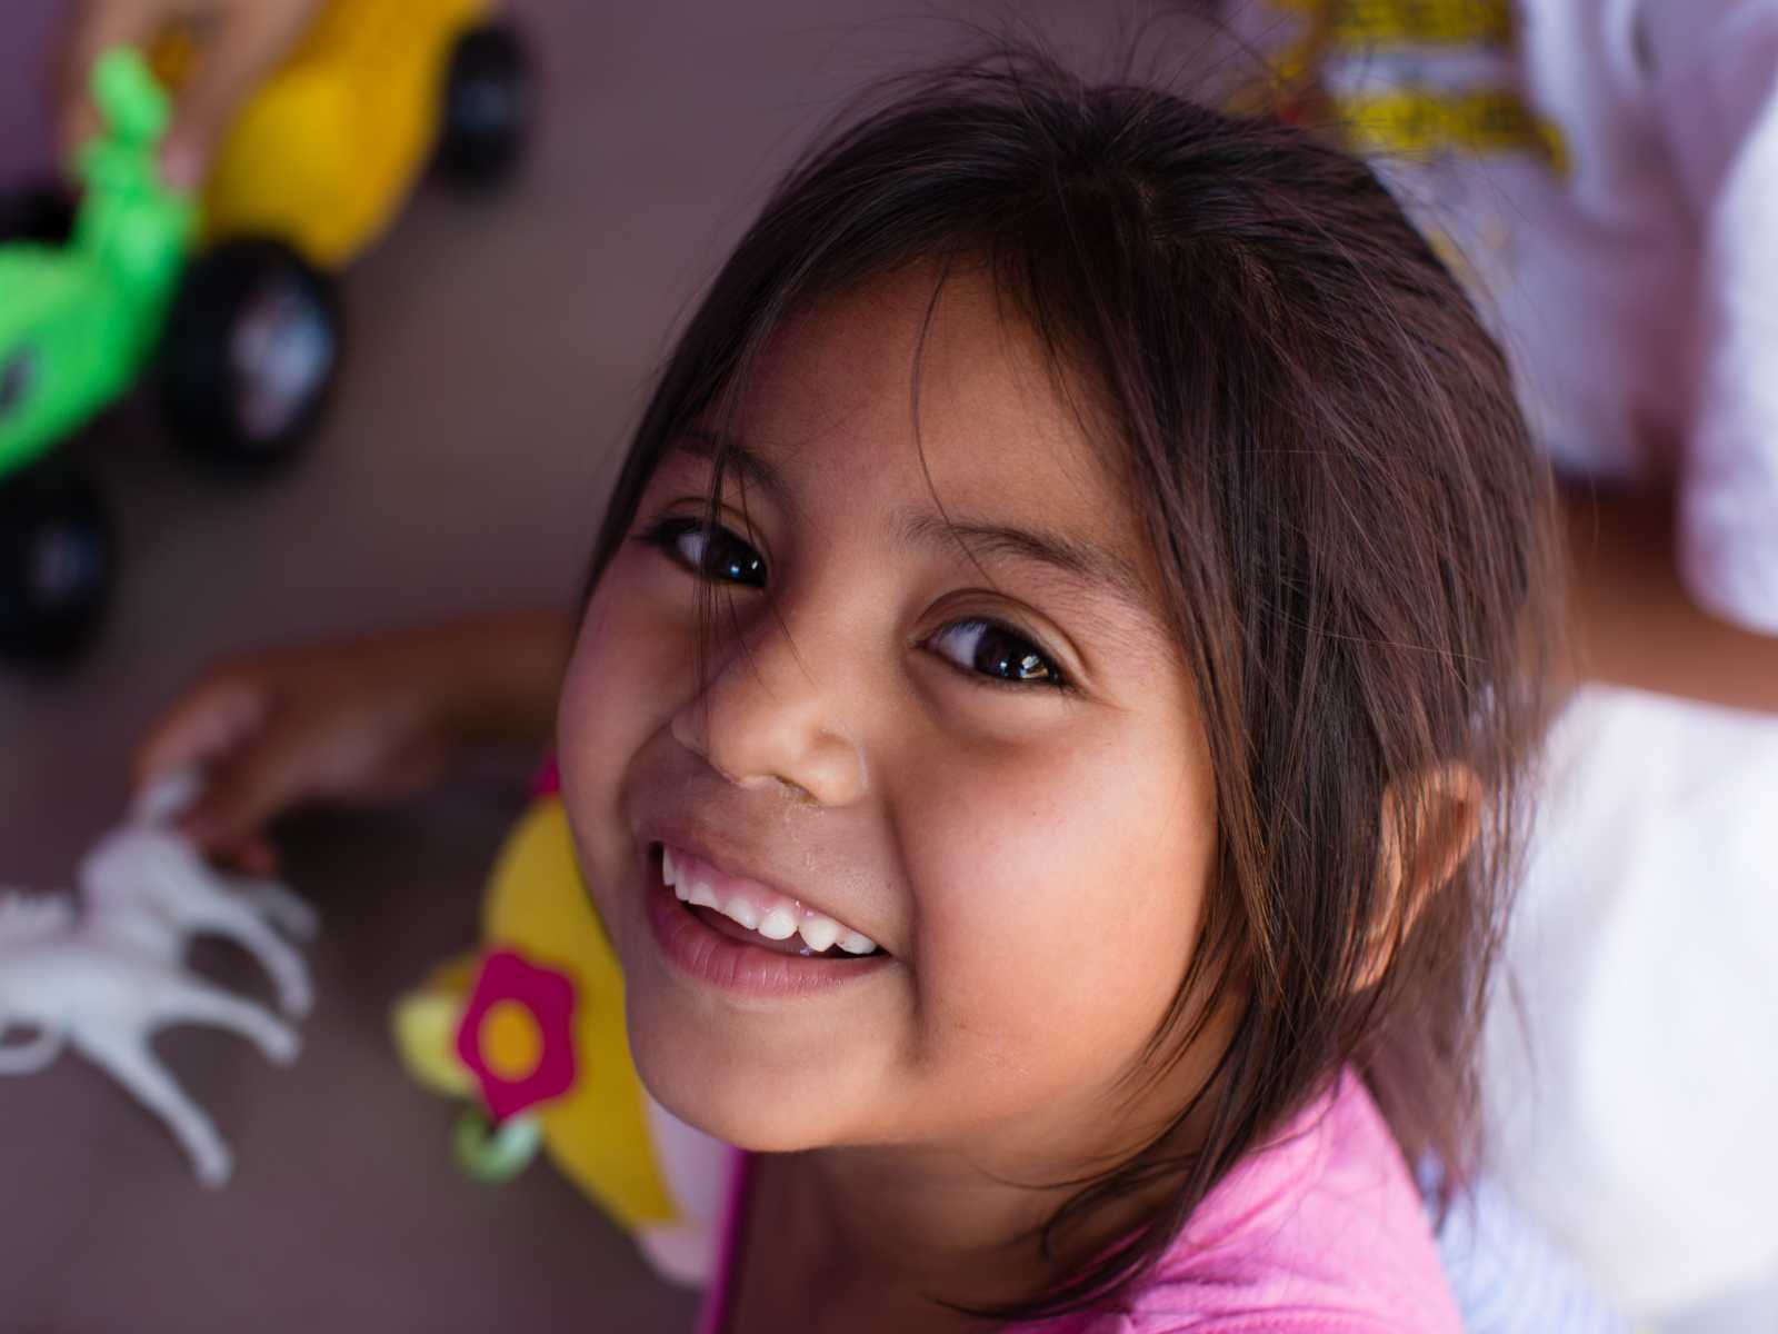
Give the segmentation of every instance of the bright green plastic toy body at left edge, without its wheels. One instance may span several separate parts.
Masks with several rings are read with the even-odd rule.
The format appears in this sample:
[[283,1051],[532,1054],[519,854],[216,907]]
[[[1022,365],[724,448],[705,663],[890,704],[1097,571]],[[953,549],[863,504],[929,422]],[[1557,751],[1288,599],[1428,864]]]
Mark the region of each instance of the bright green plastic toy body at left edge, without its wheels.
[[71,242],[0,247],[0,477],[135,384],[197,235],[192,201],[155,165],[171,105],[142,59],[108,52],[92,94],[105,133],[80,155]]

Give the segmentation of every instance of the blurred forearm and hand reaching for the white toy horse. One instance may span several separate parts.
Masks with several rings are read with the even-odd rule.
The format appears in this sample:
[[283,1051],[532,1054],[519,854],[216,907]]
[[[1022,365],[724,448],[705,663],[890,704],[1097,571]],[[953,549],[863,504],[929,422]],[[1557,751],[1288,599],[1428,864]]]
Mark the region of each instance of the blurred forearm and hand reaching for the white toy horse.
[[265,825],[293,806],[389,800],[487,752],[541,754],[573,630],[567,614],[537,612],[219,663],[153,724],[137,781],[204,765],[187,831],[268,872]]

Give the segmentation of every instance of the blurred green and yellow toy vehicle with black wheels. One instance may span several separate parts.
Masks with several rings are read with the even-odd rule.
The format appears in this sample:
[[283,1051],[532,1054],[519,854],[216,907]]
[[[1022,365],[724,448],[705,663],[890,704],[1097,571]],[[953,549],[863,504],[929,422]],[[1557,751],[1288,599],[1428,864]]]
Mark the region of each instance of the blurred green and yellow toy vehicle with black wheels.
[[0,206],[0,653],[78,647],[116,564],[96,494],[46,455],[158,372],[176,434],[242,466],[290,457],[340,365],[331,272],[428,162],[485,185],[517,162],[532,78],[489,0],[332,0],[242,108],[197,199],[160,181],[190,34],[94,68],[105,132],[78,212]]

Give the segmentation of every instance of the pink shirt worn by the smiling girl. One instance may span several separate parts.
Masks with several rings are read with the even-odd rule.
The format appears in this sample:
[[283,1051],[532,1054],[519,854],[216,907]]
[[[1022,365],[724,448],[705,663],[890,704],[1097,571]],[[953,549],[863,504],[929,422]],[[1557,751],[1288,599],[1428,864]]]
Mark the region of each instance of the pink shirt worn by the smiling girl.
[[[736,1156],[704,1334],[722,1334],[745,1156]],[[1115,1311],[1022,1334],[1462,1334],[1406,1163],[1364,1083],[1344,1074],[1230,1172]]]

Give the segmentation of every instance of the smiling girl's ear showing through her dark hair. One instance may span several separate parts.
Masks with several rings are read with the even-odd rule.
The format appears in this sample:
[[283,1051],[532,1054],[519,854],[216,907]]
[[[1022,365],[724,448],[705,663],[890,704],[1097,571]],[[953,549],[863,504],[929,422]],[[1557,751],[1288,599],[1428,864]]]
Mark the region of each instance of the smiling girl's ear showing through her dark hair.
[[1476,847],[1483,800],[1481,779],[1469,765],[1440,765],[1389,786],[1376,868],[1382,912],[1366,932],[1360,991],[1383,980],[1426,904]]

